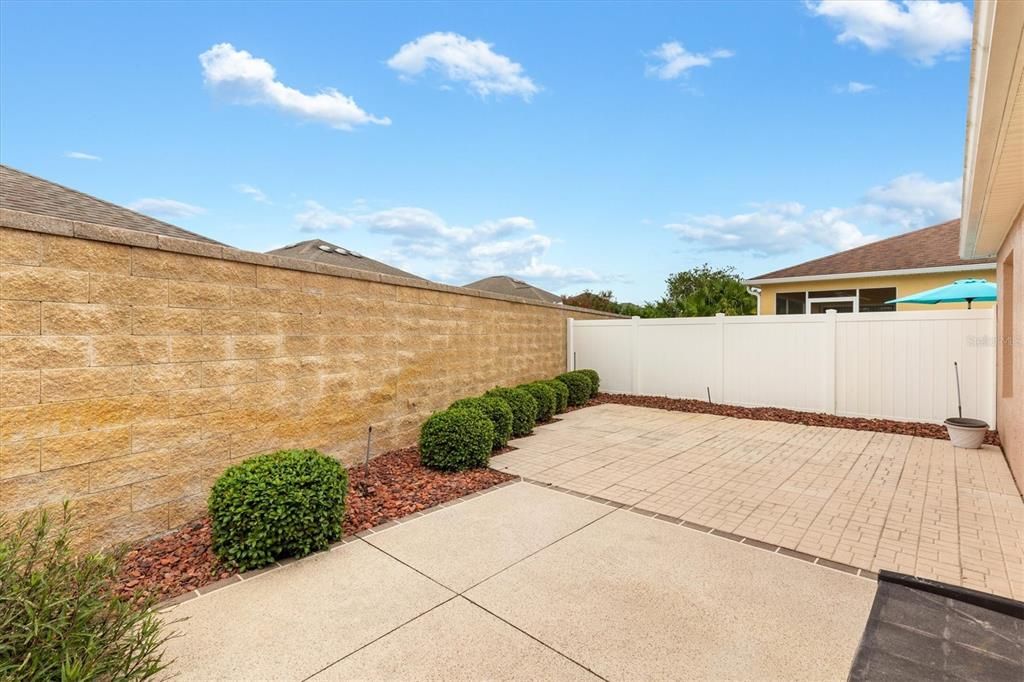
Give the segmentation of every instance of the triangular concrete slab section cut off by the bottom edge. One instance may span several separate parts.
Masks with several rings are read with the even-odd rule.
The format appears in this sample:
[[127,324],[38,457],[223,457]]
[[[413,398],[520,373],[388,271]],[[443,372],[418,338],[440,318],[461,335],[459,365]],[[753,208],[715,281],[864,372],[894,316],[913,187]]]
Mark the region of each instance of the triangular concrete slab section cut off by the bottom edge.
[[568,658],[456,597],[312,678],[598,680]]

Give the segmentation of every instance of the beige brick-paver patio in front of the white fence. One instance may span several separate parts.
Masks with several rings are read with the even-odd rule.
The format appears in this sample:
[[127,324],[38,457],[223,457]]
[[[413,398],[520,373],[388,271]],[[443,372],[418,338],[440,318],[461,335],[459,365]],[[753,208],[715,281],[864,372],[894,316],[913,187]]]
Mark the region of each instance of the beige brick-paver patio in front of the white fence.
[[813,557],[1024,599],[1024,502],[997,447],[622,404],[496,469]]

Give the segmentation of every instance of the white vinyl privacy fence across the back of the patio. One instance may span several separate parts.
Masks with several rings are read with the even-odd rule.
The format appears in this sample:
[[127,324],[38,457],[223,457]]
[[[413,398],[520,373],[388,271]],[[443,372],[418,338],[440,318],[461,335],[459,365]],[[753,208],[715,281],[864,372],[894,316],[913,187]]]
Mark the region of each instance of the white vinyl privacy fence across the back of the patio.
[[568,321],[569,369],[609,393],[995,425],[991,309]]

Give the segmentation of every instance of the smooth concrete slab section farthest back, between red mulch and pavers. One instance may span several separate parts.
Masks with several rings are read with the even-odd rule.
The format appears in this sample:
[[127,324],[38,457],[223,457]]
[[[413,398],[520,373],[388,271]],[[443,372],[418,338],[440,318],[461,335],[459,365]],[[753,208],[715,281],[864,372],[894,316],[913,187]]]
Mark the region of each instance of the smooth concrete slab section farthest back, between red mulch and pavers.
[[612,508],[537,485],[507,485],[365,540],[463,592]]

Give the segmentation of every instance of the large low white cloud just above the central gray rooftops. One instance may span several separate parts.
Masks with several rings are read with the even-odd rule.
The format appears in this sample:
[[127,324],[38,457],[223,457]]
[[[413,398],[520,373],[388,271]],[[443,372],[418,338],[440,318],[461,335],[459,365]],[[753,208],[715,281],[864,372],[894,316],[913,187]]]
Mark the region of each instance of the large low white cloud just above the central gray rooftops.
[[442,282],[464,284],[508,274],[557,288],[606,281],[588,268],[547,262],[554,240],[537,232],[535,222],[524,216],[483,220],[467,227],[450,224],[428,209],[397,207],[352,218],[391,238],[384,254],[389,262]]

